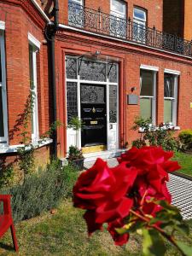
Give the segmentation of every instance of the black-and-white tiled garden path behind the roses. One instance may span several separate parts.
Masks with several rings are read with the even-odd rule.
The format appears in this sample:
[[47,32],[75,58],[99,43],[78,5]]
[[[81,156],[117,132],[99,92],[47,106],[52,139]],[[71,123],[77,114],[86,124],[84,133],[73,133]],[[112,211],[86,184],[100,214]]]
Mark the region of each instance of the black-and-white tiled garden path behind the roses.
[[[118,164],[115,158],[107,160],[108,166],[114,167]],[[85,162],[84,167],[90,168],[94,161]],[[170,181],[167,183],[172,195],[172,205],[181,210],[184,219],[192,218],[192,181],[170,174]]]

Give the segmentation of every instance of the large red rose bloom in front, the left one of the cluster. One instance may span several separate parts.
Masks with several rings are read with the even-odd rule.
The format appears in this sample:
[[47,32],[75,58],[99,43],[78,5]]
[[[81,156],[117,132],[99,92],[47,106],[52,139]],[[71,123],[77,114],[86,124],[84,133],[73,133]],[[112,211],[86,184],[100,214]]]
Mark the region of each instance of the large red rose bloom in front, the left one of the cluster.
[[80,175],[73,188],[73,203],[74,207],[89,210],[84,214],[89,233],[129,214],[133,201],[126,194],[136,177],[136,168],[122,163],[110,169],[101,159]]

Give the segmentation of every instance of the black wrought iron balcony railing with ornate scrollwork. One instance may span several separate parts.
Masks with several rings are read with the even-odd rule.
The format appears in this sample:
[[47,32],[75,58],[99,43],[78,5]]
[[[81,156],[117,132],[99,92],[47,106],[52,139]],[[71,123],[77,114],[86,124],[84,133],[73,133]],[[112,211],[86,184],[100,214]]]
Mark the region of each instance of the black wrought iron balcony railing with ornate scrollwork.
[[68,25],[109,37],[172,51],[180,55],[192,56],[192,41],[160,32],[155,27],[142,26],[130,19],[125,20],[102,13],[100,9],[85,8],[70,1],[68,3]]

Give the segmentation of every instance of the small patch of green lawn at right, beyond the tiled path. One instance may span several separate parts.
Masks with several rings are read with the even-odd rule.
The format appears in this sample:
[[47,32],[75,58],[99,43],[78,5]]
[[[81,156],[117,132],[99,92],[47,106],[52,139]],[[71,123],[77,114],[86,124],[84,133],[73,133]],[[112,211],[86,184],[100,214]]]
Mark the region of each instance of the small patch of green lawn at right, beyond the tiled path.
[[182,168],[178,172],[192,176],[192,154],[177,152],[173,160],[177,160]]

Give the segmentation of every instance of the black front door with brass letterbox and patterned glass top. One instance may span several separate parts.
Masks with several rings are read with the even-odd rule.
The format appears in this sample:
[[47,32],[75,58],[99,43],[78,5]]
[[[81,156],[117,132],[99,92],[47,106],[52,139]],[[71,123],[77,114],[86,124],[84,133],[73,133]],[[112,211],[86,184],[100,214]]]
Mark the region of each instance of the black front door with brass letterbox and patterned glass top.
[[81,84],[81,146],[107,144],[106,86]]

